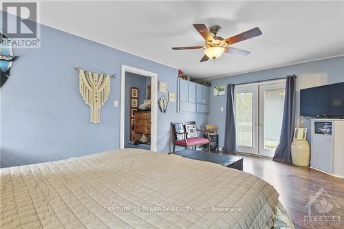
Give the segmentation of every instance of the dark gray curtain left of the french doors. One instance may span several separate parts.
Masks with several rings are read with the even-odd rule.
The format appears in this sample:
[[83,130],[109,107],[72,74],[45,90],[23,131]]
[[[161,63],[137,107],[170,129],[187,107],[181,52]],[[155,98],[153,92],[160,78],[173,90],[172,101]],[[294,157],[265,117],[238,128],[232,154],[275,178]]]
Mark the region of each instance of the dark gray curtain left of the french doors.
[[224,153],[237,153],[237,141],[235,139],[235,119],[234,119],[234,87],[235,85],[227,85],[227,108],[226,108],[226,127],[224,129]]

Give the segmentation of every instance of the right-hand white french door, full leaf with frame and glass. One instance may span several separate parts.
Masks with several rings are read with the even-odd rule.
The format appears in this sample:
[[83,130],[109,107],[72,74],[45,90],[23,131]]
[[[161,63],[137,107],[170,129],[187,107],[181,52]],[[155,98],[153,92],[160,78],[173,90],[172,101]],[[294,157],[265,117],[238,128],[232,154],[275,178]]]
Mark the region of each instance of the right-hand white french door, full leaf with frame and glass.
[[286,83],[259,86],[259,155],[273,157],[281,135]]

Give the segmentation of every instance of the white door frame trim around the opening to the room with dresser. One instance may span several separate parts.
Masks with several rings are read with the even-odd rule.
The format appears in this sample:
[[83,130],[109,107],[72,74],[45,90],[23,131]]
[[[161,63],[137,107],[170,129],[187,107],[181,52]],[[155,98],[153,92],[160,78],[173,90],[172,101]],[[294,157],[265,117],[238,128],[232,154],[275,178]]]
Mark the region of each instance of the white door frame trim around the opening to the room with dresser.
[[125,148],[125,73],[151,77],[151,151],[157,151],[158,133],[158,74],[136,67],[122,65],[120,76],[120,149]]

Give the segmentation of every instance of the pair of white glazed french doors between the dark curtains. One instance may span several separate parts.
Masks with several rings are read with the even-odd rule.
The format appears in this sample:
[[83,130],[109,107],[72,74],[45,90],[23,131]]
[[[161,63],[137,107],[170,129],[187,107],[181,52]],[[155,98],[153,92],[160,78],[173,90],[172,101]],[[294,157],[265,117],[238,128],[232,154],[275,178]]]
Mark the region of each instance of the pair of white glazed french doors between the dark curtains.
[[235,88],[237,151],[272,157],[281,135],[284,81]]

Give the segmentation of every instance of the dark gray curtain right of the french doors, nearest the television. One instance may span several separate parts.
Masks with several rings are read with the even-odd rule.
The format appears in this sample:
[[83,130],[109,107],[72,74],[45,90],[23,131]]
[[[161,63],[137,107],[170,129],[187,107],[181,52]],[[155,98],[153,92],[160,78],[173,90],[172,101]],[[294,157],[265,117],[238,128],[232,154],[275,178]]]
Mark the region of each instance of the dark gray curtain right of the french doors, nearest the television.
[[279,145],[275,151],[273,160],[292,164],[291,145],[294,135],[295,123],[295,84],[297,76],[287,76],[286,96],[284,98],[283,120]]

